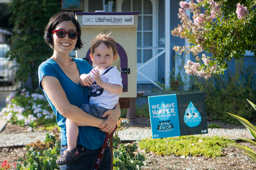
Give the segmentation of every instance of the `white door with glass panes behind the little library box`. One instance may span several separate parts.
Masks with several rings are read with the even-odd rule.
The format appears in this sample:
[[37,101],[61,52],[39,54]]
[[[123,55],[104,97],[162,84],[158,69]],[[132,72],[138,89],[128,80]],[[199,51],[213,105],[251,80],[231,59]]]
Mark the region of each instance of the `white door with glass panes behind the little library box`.
[[[137,27],[137,67],[156,55],[157,47],[157,3],[156,0],[118,0],[121,12],[139,12]],[[117,9],[119,11],[119,9]],[[139,71],[152,81],[157,80],[157,59]],[[137,73],[137,83],[150,83],[145,76]]]

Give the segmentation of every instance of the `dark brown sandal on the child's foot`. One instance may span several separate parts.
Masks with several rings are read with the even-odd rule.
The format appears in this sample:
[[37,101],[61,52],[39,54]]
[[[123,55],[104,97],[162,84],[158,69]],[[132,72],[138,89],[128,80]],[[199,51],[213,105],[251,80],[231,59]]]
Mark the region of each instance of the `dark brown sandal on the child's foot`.
[[65,150],[63,152],[63,155],[59,159],[56,160],[56,164],[57,165],[65,165],[73,160],[80,158],[82,156],[81,153],[78,153],[76,155],[76,151],[78,151],[77,148],[74,148],[71,151]]

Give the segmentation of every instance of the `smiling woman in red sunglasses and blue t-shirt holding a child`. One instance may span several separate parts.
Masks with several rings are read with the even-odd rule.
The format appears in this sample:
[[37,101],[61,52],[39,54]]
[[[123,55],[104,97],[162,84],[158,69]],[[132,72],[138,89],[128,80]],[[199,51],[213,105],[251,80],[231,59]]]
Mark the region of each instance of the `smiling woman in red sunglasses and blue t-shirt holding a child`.
[[[89,87],[79,84],[79,77],[89,73],[92,67],[83,59],[69,57],[74,48],[82,48],[81,27],[72,12],[55,14],[45,27],[44,39],[53,49],[51,58],[44,61],[38,69],[39,86],[51,105],[58,126],[61,127],[61,155],[66,150],[66,118],[88,127],[79,127],[77,149],[82,157],[61,166],[65,169],[92,170],[103,145],[105,132],[110,133],[121,114],[119,104],[115,109],[104,113],[108,119],[98,119],[83,112],[80,107],[88,103]],[[79,154],[76,151],[76,155]],[[73,154],[73,153],[72,153]],[[111,169],[112,156],[107,147],[99,169]]]

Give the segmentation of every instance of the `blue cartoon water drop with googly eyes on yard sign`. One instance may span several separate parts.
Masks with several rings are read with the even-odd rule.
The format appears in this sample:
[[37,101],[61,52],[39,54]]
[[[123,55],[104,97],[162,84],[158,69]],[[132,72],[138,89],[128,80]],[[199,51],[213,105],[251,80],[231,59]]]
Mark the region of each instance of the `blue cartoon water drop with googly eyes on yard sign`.
[[201,122],[201,115],[197,111],[194,104],[190,101],[188,108],[186,109],[185,115],[184,115],[184,121],[186,125],[189,127],[195,127],[198,126]]

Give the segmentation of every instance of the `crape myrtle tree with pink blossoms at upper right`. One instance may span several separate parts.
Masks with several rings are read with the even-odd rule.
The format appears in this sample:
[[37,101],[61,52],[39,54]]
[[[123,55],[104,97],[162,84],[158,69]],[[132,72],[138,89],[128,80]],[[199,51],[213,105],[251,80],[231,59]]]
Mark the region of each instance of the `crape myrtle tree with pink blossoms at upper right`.
[[[243,58],[246,50],[256,58],[255,8],[256,0],[181,1],[181,24],[172,35],[187,39],[190,45],[173,49],[179,54],[191,52],[196,58],[184,64],[185,72],[208,79],[212,73],[223,73],[231,59]],[[193,21],[186,9],[193,13]]]

